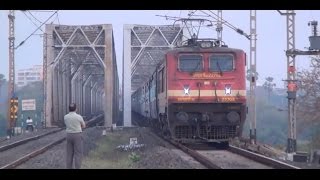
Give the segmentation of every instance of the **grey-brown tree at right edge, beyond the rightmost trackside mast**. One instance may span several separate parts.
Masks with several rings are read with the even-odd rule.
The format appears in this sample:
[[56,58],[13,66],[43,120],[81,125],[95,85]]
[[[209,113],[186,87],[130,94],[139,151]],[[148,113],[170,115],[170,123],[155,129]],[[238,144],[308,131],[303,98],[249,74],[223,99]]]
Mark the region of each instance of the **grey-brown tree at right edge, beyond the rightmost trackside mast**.
[[312,130],[312,144],[320,147],[320,56],[311,57],[309,70],[297,73],[299,93],[297,97],[298,132]]

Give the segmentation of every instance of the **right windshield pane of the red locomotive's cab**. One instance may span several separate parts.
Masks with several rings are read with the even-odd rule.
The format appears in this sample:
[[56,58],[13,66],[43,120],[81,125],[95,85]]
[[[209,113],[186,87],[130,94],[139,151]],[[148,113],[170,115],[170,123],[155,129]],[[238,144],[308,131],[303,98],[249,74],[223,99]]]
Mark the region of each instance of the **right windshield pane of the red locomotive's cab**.
[[232,55],[212,55],[210,57],[210,71],[232,71]]

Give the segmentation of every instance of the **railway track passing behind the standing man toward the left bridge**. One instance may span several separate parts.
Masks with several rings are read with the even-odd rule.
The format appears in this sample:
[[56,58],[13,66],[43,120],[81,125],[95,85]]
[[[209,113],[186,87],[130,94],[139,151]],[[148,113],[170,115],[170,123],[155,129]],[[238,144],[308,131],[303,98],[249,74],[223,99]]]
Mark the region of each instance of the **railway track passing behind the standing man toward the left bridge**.
[[[93,117],[86,122],[87,127],[91,127],[97,123],[101,123],[103,115]],[[46,136],[38,137],[38,141],[28,140],[27,142],[20,142],[20,144],[11,145],[10,147],[3,147],[3,152],[0,154],[0,169],[15,168],[29,159],[44,153],[57,144],[65,140],[66,134],[63,129],[55,133],[47,134]],[[40,144],[40,145],[39,145]],[[13,147],[15,147],[13,149]],[[12,156],[14,154],[14,156]]]

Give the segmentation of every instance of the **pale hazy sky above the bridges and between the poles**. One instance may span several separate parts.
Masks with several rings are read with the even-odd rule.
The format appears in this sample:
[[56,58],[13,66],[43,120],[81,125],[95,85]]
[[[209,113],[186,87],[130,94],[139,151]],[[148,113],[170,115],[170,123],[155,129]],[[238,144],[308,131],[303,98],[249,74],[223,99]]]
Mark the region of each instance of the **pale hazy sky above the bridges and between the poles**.
[[[53,12],[36,12],[32,14],[41,22],[45,21]],[[8,76],[8,11],[0,11],[0,73]],[[142,25],[164,25],[172,24],[173,21],[166,20],[156,15],[181,16],[187,17],[188,11],[180,10],[72,10],[59,11],[58,18],[54,16],[49,23],[62,25],[94,25],[94,24],[112,24],[115,38],[115,47],[117,55],[117,66],[119,78],[122,79],[122,48],[123,48],[123,25],[124,24],[142,24]],[[320,11],[296,11],[296,48],[305,50],[309,47],[308,37],[311,34],[308,22],[319,20]],[[31,17],[29,13],[27,15]],[[234,26],[249,32],[249,10],[225,10],[223,18]],[[59,21],[58,21],[59,20]],[[37,25],[39,22],[33,19]],[[16,11],[15,35],[17,46],[22,40],[28,37],[37,27],[23,14]],[[44,30],[44,26],[42,27]],[[39,30],[36,34],[41,34]],[[216,38],[215,27],[202,28],[200,37]],[[286,78],[286,17],[280,16],[275,10],[257,11],[257,71],[260,75],[258,84],[265,81],[265,77],[275,78],[277,87],[283,87],[283,79]],[[230,28],[223,27],[223,41],[229,47],[244,49],[249,58],[249,40],[239,35]],[[29,68],[33,65],[42,64],[42,37],[34,35],[19,47],[15,52],[16,71],[23,68]],[[299,69],[309,66],[309,58],[306,56],[296,57],[297,67]],[[122,80],[120,81],[122,82]]]

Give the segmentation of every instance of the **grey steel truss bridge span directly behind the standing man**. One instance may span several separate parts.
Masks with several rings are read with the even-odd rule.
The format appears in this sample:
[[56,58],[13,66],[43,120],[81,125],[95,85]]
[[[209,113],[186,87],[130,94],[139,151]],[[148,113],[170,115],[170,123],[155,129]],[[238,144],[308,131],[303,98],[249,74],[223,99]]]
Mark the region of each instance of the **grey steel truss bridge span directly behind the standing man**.
[[[47,24],[45,34],[46,125],[63,126],[61,120],[68,112],[68,104],[71,102],[76,103],[77,111],[86,117],[111,109],[114,102],[110,97],[106,99],[108,103],[105,103],[108,107],[102,106],[105,99],[101,91],[111,92],[110,89],[105,90],[106,73],[114,69],[117,71],[116,68],[108,67],[116,67],[115,56],[111,54],[110,57],[108,54],[110,49],[114,52],[112,26]],[[108,82],[113,83],[117,78],[116,75],[116,78]],[[92,87],[93,84],[98,86]],[[95,105],[92,106],[92,103]],[[109,117],[107,124],[110,126],[111,123],[112,119]]]

